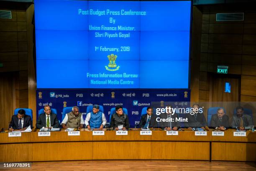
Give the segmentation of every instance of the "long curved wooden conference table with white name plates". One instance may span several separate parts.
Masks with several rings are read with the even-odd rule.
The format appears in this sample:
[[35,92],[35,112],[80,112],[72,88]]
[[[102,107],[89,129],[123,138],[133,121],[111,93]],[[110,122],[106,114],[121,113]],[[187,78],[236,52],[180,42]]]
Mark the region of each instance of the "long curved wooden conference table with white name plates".
[[[38,136],[38,130],[35,130],[21,133],[20,137],[9,137],[6,132],[0,133],[0,162],[256,161],[256,133],[247,131],[245,136],[235,132],[235,136],[234,131],[229,129],[224,132],[224,136],[215,136],[211,131],[201,135],[202,133],[184,129],[184,131],[169,132],[171,135],[166,135],[166,131],[154,129],[151,135],[141,135],[139,129],[133,129],[127,132],[128,135],[116,135],[114,130],[104,131],[104,135],[93,135],[93,131],[81,129],[80,135],[74,136],[68,135],[64,130],[51,131],[50,136]],[[148,132],[144,131],[144,134]]]

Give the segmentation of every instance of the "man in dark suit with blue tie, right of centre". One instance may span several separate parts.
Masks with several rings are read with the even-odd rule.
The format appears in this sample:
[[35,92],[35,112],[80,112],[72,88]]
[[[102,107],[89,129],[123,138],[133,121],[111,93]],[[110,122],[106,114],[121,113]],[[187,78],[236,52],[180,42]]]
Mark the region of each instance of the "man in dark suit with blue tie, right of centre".
[[141,116],[141,120],[139,123],[141,128],[156,128],[157,122],[156,122],[156,115],[153,114],[153,107],[147,108],[147,114]]

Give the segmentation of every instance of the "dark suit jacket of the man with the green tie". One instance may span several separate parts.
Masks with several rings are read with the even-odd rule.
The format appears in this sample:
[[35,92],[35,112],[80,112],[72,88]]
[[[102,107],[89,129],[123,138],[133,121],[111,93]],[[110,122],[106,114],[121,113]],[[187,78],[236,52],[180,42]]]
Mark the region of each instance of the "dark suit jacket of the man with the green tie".
[[[57,115],[54,113],[50,113],[50,122],[52,128],[59,128],[59,120],[57,119]],[[39,115],[36,121],[36,128],[43,128],[46,126],[46,114],[42,113]]]

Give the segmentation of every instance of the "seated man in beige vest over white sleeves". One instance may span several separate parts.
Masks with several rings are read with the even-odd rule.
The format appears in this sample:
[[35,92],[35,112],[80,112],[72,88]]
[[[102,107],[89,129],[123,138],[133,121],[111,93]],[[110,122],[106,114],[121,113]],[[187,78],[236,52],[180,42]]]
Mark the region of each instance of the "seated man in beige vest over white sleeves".
[[83,128],[84,119],[82,113],[79,112],[79,108],[77,106],[72,107],[72,111],[65,115],[61,124],[64,129]]

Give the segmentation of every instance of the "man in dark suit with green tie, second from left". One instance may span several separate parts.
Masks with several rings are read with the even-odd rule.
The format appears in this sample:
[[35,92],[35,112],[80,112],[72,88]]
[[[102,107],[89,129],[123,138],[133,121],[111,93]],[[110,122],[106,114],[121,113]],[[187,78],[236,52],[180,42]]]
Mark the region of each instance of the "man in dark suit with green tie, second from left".
[[44,107],[44,113],[39,115],[36,121],[36,128],[59,128],[57,115],[51,112],[50,106]]

